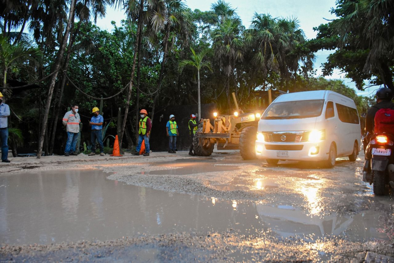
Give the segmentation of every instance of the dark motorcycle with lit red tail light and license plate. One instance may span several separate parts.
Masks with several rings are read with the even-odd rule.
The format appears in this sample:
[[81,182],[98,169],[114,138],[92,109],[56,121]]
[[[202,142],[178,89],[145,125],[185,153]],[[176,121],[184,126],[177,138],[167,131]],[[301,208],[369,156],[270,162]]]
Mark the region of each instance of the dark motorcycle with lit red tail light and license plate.
[[386,185],[394,188],[393,145],[393,134],[375,133],[365,148],[362,180],[374,184],[374,194],[377,196],[385,194]]

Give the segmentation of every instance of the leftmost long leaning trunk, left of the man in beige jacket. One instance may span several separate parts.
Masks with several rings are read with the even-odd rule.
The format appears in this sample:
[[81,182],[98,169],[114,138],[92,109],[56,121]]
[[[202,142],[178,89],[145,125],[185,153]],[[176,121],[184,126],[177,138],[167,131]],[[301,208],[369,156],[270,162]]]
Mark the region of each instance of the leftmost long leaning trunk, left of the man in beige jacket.
[[46,131],[46,124],[48,123],[50,103],[52,101],[52,94],[53,94],[53,90],[55,88],[55,82],[56,82],[56,78],[58,76],[58,70],[60,68],[60,63],[63,60],[63,54],[64,54],[64,51],[66,48],[67,40],[69,38],[69,33],[70,33],[70,29],[71,29],[71,21],[74,17],[75,3],[76,3],[76,0],[71,0],[69,19],[67,21],[66,31],[64,33],[63,42],[61,43],[61,47],[58,52],[58,57],[56,58],[55,65],[54,65],[54,71],[56,71],[56,73],[53,75],[50,85],[49,85],[48,96],[46,99],[45,112],[44,112],[44,117],[43,117],[43,124],[41,127],[41,133],[40,133],[40,137],[39,137],[39,141],[38,141],[38,150],[37,150],[37,158],[38,159],[41,158],[41,152],[43,150],[43,142],[44,142],[44,136],[45,136],[45,131]]

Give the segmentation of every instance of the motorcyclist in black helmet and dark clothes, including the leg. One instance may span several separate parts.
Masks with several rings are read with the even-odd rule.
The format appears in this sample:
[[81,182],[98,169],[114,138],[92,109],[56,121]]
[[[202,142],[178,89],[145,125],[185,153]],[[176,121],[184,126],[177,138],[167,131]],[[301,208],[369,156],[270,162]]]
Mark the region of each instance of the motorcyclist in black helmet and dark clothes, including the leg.
[[[394,103],[391,102],[392,98],[393,92],[388,88],[380,88],[376,91],[376,104],[369,108],[365,118],[365,131],[368,132],[369,135],[374,134],[376,112],[385,108],[394,109]],[[367,141],[365,141],[364,144],[369,143],[369,138],[370,137],[368,136],[366,139]],[[366,145],[364,145],[364,147],[365,146]],[[364,162],[363,181],[371,182],[370,160],[367,159],[365,159]]]

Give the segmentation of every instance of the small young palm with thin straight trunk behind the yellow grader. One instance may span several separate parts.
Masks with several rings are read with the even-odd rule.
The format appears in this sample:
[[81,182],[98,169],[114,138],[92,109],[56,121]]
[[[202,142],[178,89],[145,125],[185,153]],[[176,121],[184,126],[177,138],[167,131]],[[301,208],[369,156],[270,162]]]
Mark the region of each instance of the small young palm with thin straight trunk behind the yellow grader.
[[184,67],[186,67],[187,65],[195,67],[197,69],[198,118],[201,118],[200,69],[203,67],[207,67],[212,72],[212,68],[211,68],[211,62],[203,61],[204,56],[209,51],[208,49],[204,49],[199,54],[196,54],[196,52],[194,51],[193,48],[190,48],[190,50],[191,50],[191,56],[190,56],[191,59],[190,60],[182,60],[178,64],[178,70],[179,70],[179,72],[182,72]]

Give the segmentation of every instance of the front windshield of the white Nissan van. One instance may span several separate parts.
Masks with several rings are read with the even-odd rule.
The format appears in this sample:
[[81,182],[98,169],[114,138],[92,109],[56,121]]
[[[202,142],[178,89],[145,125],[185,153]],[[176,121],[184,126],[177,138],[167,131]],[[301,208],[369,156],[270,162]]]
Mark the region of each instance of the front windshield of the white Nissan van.
[[317,117],[322,114],[323,99],[307,101],[284,101],[272,103],[261,119],[302,119]]

